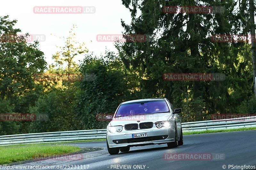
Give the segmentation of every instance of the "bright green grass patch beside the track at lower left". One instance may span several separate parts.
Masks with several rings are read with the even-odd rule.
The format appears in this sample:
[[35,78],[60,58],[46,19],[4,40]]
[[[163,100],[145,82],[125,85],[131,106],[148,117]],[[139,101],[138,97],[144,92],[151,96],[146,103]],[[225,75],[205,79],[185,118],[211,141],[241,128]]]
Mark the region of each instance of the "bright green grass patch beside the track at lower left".
[[49,145],[49,144],[26,144],[22,146],[9,145],[0,147],[0,165],[33,159],[36,155],[47,156],[62,155],[80,151],[76,146]]

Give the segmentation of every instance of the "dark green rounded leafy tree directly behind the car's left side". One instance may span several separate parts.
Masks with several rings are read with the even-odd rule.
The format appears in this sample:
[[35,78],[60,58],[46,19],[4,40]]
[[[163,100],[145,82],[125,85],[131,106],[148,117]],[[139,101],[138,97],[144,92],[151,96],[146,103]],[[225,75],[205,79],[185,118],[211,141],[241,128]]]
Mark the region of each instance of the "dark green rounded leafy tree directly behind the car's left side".
[[81,64],[81,73],[93,74],[94,78],[79,82],[75,93],[74,113],[80,121],[78,129],[106,128],[108,121],[98,120],[97,115],[115,113],[118,105],[126,99],[124,74],[114,63],[90,54]]

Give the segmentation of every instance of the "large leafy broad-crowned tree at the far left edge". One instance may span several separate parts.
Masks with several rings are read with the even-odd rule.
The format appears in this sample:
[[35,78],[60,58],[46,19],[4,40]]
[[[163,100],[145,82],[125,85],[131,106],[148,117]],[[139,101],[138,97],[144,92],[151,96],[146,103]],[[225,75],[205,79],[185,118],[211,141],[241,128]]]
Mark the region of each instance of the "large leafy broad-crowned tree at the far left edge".
[[8,16],[0,17],[0,98],[13,103],[14,112],[28,111],[42,88],[36,85],[33,75],[42,72],[46,67],[44,53],[38,49],[38,42],[28,43],[25,36],[19,35],[20,29],[14,28],[17,20],[9,20]]

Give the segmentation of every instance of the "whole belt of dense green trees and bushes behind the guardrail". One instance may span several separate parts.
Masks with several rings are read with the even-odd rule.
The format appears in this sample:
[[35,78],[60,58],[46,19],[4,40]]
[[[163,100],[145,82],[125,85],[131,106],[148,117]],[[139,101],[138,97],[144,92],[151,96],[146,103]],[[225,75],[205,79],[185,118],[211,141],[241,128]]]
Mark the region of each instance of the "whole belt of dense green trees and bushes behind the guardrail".
[[[256,113],[251,44],[213,42],[214,34],[248,34],[247,1],[122,0],[131,12],[124,34],[155,35],[147,42],[118,42],[118,54],[88,54],[74,41],[52,56],[46,70],[38,42],[0,42],[1,113],[47,114],[49,120],[1,121],[0,135],[106,128],[99,114],[113,114],[127,100],[166,97],[182,108],[182,122],[211,119],[216,113]],[[163,6],[224,6],[224,13],[164,13]],[[16,21],[0,17],[0,34],[17,34]],[[24,37],[21,37],[21,39]],[[76,42],[75,44],[73,44]],[[84,60],[78,66],[78,54]],[[65,68],[65,62],[68,63]],[[57,67],[58,66],[58,67]],[[34,81],[33,74],[82,74],[81,81]],[[222,73],[224,81],[164,81],[164,73]],[[88,76],[92,76],[88,78]]]

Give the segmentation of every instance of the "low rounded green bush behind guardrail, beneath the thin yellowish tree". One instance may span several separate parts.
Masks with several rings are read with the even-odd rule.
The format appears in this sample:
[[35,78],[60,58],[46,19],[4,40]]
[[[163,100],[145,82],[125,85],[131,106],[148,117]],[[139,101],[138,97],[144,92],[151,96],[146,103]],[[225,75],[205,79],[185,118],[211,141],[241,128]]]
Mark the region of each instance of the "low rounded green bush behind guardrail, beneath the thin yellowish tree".
[[49,119],[33,122],[29,133],[77,130],[80,121],[72,110],[75,92],[76,87],[52,88],[45,92],[35,106],[30,107],[30,112],[48,115]]

